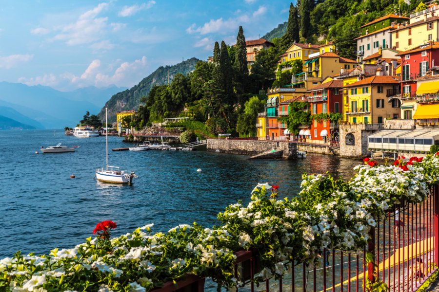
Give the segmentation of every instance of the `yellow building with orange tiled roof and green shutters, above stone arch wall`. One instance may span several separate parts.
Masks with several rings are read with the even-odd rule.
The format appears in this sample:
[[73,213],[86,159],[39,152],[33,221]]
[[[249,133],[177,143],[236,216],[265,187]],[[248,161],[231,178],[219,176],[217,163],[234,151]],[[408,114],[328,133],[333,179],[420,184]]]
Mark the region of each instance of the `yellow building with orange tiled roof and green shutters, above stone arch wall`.
[[[382,124],[384,118],[399,118],[401,102],[388,91],[399,89],[399,80],[392,76],[371,76],[346,85],[346,121],[351,124]],[[345,108],[346,109],[346,108]]]

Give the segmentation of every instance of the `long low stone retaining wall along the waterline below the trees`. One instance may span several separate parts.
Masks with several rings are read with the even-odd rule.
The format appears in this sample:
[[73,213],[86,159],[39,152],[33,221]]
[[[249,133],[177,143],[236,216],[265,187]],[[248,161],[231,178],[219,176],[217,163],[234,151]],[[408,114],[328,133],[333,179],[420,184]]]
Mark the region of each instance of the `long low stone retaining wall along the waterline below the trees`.
[[277,141],[207,139],[207,150],[230,154],[256,155],[271,149],[282,149],[283,158],[296,158],[296,144]]

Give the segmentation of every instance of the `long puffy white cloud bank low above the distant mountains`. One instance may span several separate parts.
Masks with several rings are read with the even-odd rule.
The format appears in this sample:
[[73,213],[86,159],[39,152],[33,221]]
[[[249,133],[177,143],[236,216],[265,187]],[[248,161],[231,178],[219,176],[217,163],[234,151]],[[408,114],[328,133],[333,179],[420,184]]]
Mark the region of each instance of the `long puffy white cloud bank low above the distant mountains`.
[[116,62],[104,68],[101,61],[95,59],[80,75],[67,72],[57,76],[49,73],[32,78],[20,77],[18,81],[29,86],[41,84],[59,90],[74,90],[90,85],[106,87],[114,84],[120,87],[132,87],[146,75],[145,56],[133,62],[121,62],[120,60]]

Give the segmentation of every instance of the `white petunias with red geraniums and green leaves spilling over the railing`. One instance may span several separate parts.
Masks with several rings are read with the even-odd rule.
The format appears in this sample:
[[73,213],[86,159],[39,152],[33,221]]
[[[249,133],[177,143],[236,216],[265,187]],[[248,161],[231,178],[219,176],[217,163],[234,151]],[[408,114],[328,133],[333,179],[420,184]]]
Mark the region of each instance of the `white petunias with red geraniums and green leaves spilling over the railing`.
[[236,251],[249,249],[262,268],[256,282],[280,278],[292,262],[317,265],[325,248],[362,250],[386,210],[423,201],[427,184],[439,182],[439,153],[393,165],[366,159],[355,169],[349,182],[304,175],[292,199],[279,200],[278,186],[259,184],[247,205],[228,206],[211,229],[182,224],[164,234],[149,224],[110,238],[116,223],[101,222],[97,237],[72,249],[0,260],[0,291],[150,291],[187,275],[232,287]]

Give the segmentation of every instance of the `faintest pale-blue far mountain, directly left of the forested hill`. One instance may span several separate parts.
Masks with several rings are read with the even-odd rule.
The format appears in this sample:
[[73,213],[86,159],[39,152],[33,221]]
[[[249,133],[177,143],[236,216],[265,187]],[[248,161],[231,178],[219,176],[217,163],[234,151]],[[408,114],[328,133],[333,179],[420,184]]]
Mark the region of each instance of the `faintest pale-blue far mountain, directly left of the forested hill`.
[[[111,85],[106,88],[89,86],[66,93],[68,94],[67,98],[71,100],[88,101],[95,106],[101,108],[111,96],[126,89],[126,87],[117,87],[116,85]],[[94,114],[96,114],[96,112]]]

